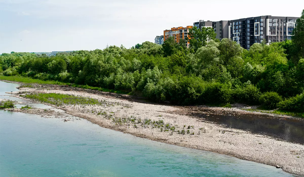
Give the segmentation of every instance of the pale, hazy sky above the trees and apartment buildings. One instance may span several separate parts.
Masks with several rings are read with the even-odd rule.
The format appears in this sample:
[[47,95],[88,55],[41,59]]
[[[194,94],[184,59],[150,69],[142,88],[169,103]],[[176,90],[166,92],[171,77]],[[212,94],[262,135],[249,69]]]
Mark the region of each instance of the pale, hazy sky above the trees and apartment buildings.
[[[293,0],[0,0],[0,54],[126,48],[198,20],[299,17]],[[254,4],[253,4],[254,3]],[[286,8],[282,8],[287,5]],[[284,9],[279,11],[278,9]]]

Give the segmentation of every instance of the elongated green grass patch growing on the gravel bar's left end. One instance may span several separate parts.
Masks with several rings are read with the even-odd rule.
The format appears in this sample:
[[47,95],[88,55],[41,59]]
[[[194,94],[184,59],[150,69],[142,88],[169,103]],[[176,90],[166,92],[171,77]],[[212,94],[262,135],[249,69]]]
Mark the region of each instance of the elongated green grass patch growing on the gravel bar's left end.
[[71,105],[76,105],[76,104],[101,104],[98,102],[97,99],[93,98],[85,98],[85,97],[78,97],[74,95],[67,95],[67,94],[45,94],[45,93],[40,93],[40,94],[26,94],[26,95],[21,95],[22,97],[37,100],[43,103],[48,103],[48,104],[55,104],[55,105],[63,105],[63,104],[71,104]]

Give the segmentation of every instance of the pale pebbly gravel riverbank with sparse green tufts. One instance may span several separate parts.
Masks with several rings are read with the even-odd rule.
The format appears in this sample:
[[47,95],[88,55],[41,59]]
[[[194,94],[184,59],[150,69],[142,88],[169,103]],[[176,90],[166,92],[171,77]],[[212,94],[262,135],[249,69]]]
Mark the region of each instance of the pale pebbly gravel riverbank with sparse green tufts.
[[[57,93],[97,99],[100,104],[61,104],[53,107],[92,123],[138,137],[201,149],[237,158],[279,165],[285,172],[304,175],[304,145],[281,141],[266,135],[226,128],[190,116],[191,109],[178,106],[135,102],[134,97],[56,85],[33,84],[12,92],[26,94]],[[35,100],[37,101],[37,100]],[[213,114],[253,114],[238,108],[204,107]],[[35,114],[35,108],[33,114]],[[12,110],[14,111],[14,110]],[[40,111],[43,112],[43,111]],[[265,114],[265,113],[254,113]],[[280,117],[272,115],[274,118]],[[281,116],[282,117],[282,116]]]

